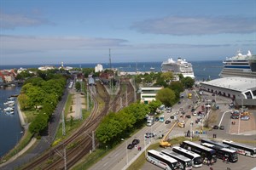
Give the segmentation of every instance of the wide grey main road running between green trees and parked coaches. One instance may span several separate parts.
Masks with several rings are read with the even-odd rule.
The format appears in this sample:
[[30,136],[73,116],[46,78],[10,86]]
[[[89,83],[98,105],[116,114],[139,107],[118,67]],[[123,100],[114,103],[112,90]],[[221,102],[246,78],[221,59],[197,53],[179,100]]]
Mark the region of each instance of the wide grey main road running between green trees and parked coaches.
[[[181,105],[174,105],[172,107],[171,113],[167,113],[166,111],[163,113],[165,115],[165,120],[171,120],[170,116],[172,116],[175,112],[179,111],[180,108],[183,108],[185,111],[188,111],[190,104],[192,104],[192,100],[184,98],[183,100],[181,100]],[[127,144],[130,144],[133,139],[140,139],[141,143],[139,144],[139,146],[141,146],[142,149],[144,149],[145,145],[149,144],[150,142],[154,143],[156,141],[159,141],[157,137],[152,139],[145,139],[145,133],[155,133],[156,136],[166,134],[170,127],[172,127],[173,122],[173,120],[171,120],[170,124],[165,124],[165,122],[155,122],[154,125],[151,127],[143,127],[143,129],[141,129],[139,132],[132,135],[130,139],[125,139],[125,141],[122,144],[119,144],[119,146],[117,146],[114,150],[112,150],[108,154],[108,156],[103,157],[101,161],[98,161],[94,166],[90,167],[90,170],[116,170],[124,168],[127,164],[127,156],[128,162],[130,164],[131,159],[137,156],[139,152],[141,152],[141,154],[143,153],[143,150],[137,150],[134,148],[132,150],[127,150],[126,155]],[[189,123],[190,122],[187,122],[185,129],[189,129]],[[183,128],[175,127],[169,134],[169,138],[173,138],[173,136],[183,135],[183,130]]]

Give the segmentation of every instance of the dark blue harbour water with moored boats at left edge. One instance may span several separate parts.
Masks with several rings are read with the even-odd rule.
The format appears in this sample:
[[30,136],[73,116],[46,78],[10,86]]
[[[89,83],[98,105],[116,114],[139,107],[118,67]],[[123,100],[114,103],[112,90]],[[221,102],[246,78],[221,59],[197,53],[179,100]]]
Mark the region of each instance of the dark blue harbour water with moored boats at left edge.
[[3,111],[6,107],[3,103],[13,94],[20,94],[20,88],[0,88],[0,157],[13,149],[23,135],[23,133],[20,133],[23,129],[20,126],[20,117],[17,113],[16,105],[14,115],[6,115]]

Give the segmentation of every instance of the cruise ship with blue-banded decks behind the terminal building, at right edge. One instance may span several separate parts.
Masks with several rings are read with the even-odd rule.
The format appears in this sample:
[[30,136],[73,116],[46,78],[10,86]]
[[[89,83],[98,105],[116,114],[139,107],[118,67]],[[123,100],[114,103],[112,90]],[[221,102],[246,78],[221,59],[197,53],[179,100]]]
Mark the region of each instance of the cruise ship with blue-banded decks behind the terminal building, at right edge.
[[224,68],[219,77],[248,77],[256,78],[256,55],[248,51],[241,54],[239,50],[236,56],[223,61]]

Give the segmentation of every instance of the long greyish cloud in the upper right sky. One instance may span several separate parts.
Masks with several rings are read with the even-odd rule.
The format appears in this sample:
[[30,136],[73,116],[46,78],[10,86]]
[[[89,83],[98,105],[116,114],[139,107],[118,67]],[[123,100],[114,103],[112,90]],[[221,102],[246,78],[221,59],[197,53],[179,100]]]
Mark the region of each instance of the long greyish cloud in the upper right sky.
[[209,35],[222,33],[255,32],[255,17],[184,17],[166,16],[160,19],[143,20],[131,26],[142,33],[185,35]]

